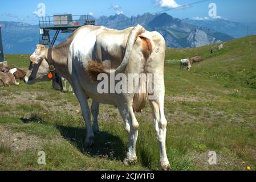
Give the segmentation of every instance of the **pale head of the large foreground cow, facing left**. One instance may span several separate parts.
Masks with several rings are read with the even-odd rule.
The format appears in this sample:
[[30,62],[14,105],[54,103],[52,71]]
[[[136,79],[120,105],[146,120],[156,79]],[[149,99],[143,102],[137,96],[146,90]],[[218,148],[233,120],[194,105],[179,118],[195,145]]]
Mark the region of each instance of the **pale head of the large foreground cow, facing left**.
[[30,56],[29,71],[24,78],[26,84],[51,80],[48,78],[49,65],[45,60],[46,55],[47,49],[43,45],[37,45],[35,52]]

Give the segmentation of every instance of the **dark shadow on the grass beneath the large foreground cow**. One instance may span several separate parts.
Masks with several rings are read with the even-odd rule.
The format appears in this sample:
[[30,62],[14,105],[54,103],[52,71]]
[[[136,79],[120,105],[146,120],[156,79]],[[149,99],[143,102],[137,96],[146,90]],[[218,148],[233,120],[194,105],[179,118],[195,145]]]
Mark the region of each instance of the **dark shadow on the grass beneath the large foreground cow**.
[[123,141],[105,131],[95,134],[95,144],[90,148],[84,146],[86,129],[81,127],[57,126],[60,134],[69,140],[79,151],[85,152],[92,157],[100,156],[102,158],[123,160],[125,158],[125,145]]

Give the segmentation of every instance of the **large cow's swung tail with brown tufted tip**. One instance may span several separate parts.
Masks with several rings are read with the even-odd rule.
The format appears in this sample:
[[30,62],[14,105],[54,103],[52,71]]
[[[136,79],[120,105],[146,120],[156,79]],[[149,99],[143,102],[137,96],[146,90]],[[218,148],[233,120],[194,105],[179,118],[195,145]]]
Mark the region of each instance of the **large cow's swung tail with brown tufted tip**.
[[131,57],[132,49],[136,42],[136,39],[140,34],[143,34],[144,32],[145,32],[145,28],[143,28],[139,24],[136,27],[134,27],[133,30],[130,32],[128,36],[128,41],[126,44],[124,59],[117,69],[109,70],[104,68],[104,65],[102,63],[96,63],[96,61],[89,61],[89,64],[87,67],[88,76],[90,76],[92,80],[96,80],[97,75],[99,75],[100,73],[118,74],[121,71],[123,71],[128,64],[129,58]]

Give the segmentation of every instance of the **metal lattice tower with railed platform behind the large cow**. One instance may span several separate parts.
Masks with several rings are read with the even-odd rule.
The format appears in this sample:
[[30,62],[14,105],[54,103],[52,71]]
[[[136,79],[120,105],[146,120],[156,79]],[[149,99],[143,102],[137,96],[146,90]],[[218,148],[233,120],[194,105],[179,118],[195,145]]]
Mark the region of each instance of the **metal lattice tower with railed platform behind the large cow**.
[[[39,44],[45,47],[53,47],[59,33],[74,32],[84,25],[95,25],[95,20],[91,15],[54,15],[39,17],[40,40]],[[54,37],[50,38],[50,31],[55,31]],[[62,80],[56,75],[56,83],[52,85],[56,90],[62,90]]]

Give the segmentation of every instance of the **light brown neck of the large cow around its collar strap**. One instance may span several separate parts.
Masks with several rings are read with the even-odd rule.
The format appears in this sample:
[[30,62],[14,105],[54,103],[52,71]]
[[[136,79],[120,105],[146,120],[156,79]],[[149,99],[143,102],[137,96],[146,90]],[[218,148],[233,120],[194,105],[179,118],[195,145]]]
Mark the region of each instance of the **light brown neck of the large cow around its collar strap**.
[[[48,48],[46,49],[46,55],[48,57]],[[58,48],[52,48],[51,57],[58,76],[68,78],[66,53],[62,53]]]

